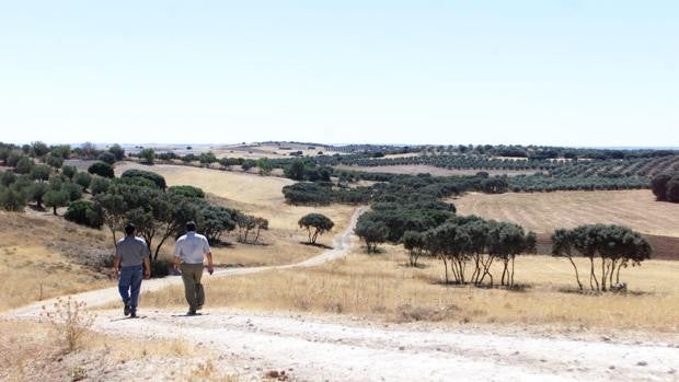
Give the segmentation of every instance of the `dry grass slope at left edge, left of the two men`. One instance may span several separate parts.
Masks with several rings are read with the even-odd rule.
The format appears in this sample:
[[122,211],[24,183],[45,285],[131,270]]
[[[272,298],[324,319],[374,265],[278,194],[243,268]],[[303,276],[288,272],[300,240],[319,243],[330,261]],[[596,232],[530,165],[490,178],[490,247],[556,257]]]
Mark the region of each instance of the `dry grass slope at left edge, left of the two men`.
[[33,211],[0,211],[0,311],[108,286],[104,275],[88,266],[112,254],[106,232]]

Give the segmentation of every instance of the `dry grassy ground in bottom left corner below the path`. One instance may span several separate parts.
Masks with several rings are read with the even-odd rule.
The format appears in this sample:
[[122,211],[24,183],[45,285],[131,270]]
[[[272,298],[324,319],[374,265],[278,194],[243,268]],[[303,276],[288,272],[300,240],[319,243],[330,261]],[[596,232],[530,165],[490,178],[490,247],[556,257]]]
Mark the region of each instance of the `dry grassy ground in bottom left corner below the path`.
[[209,349],[184,340],[87,332],[83,348],[68,354],[47,323],[0,321],[0,333],[2,381],[239,380]]

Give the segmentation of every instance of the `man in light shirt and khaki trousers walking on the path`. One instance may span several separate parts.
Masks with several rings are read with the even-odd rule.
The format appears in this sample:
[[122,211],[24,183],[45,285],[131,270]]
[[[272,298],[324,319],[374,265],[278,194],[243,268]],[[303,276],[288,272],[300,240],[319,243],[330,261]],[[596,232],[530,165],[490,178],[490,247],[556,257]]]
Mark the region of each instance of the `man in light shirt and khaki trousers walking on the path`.
[[203,277],[203,257],[207,257],[207,271],[211,275],[212,253],[207,239],[196,233],[196,223],[186,223],[186,234],[177,239],[174,245],[174,267],[182,269],[184,294],[188,302],[187,315],[196,315],[205,303],[205,290],[200,283]]

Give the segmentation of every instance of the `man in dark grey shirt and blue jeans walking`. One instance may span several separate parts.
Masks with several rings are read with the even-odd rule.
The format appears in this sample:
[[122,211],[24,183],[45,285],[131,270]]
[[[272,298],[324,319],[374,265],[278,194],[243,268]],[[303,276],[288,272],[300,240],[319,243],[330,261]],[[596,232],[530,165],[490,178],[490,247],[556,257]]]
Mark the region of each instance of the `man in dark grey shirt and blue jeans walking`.
[[151,277],[149,247],[143,239],[135,235],[135,231],[133,223],[125,225],[125,238],[116,243],[113,257],[113,273],[118,277],[118,291],[125,304],[123,313],[133,319],[137,316],[141,278],[148,280]]

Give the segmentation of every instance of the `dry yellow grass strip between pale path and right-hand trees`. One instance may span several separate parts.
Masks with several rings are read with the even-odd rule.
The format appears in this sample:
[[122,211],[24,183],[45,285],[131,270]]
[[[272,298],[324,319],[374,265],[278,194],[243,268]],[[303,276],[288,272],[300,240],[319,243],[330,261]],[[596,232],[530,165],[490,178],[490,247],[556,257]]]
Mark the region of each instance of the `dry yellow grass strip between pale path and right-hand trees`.
[[[267,271],[206,280],[209,306],[350,313],[388,321],[450,321],[481,324],[554,325],[672,333],[679,327],[679,263],[646,262],[623,270],[630,293],[586,296],[576,288],[566,259],[532,256],[516,264],[522,291],[442,286],[439,262],[406,267],[401,248],[355,253],[312,269]],[[583,270],[585,264],[582,265]],[[495,269],[498,275],[498,269]],[[181,287],[146,293],[145,304],[185,304]]]

